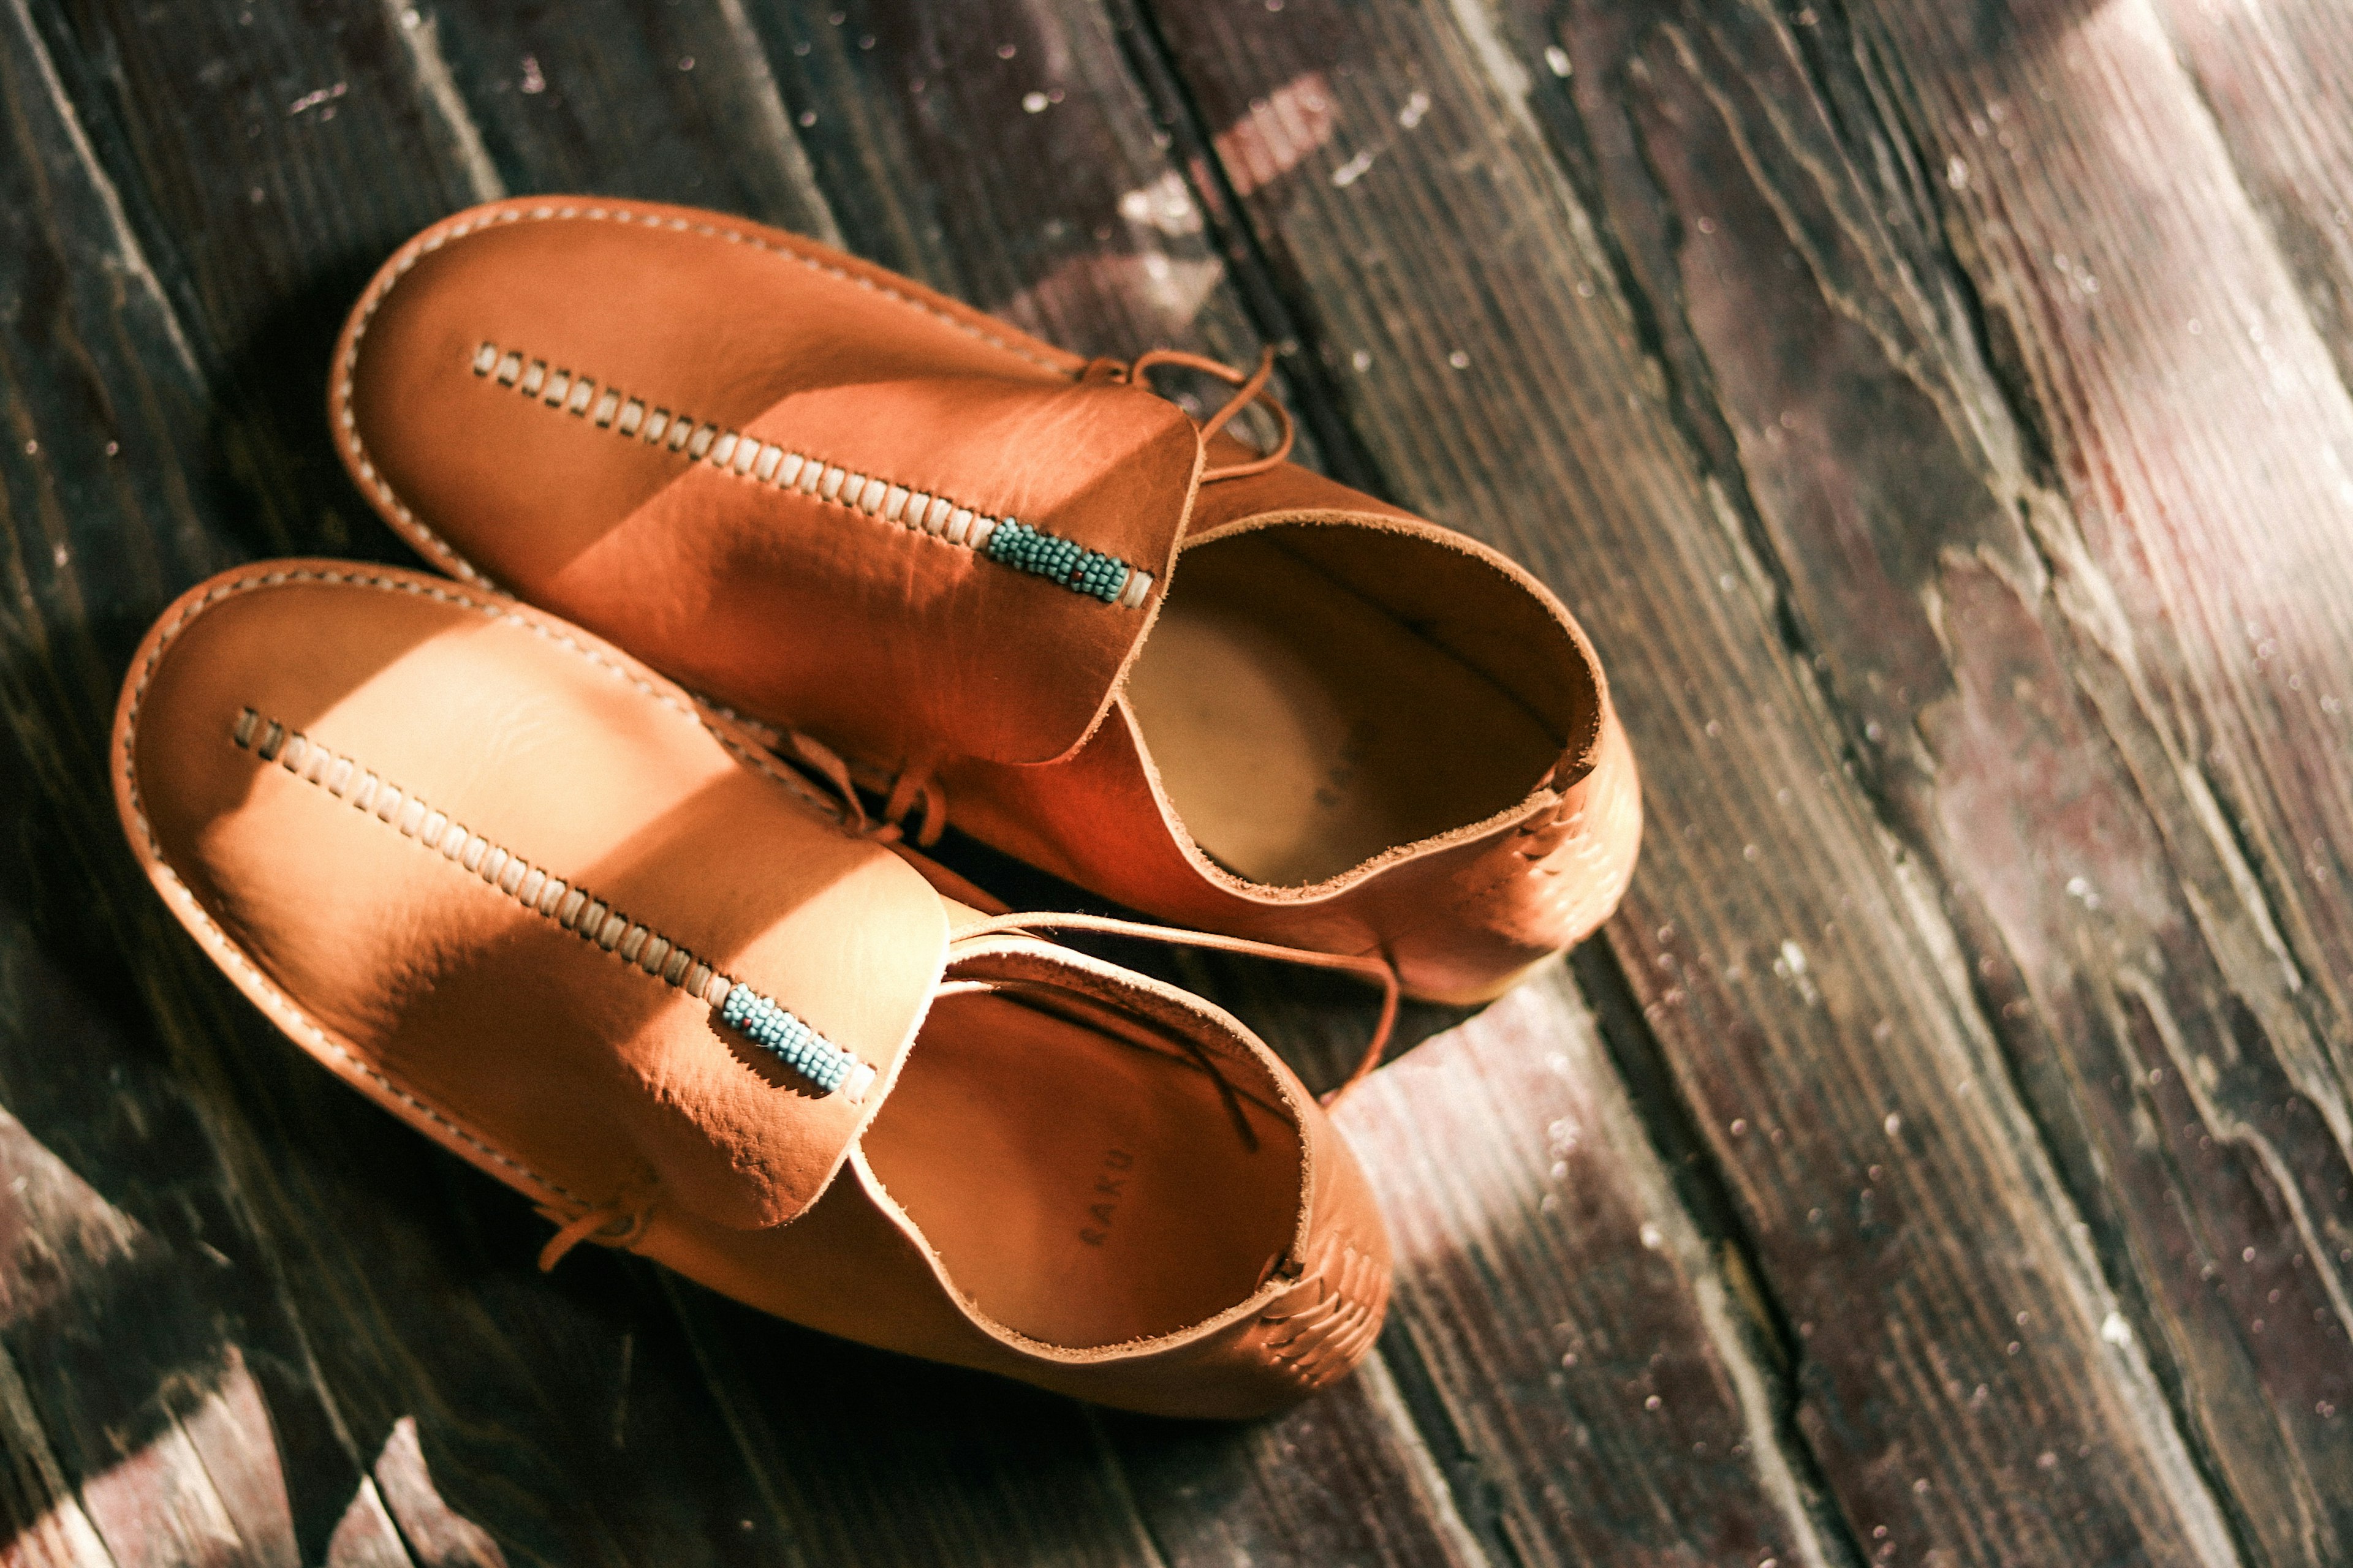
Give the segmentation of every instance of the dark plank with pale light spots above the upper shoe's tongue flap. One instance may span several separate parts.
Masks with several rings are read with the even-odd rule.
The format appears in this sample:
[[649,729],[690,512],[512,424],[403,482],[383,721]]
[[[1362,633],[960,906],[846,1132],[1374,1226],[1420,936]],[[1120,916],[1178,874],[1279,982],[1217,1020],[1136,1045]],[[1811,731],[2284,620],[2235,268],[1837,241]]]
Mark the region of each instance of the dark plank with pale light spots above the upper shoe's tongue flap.
[[1092,5],[762,5],[845,244],[1078,353],[1252,329]]

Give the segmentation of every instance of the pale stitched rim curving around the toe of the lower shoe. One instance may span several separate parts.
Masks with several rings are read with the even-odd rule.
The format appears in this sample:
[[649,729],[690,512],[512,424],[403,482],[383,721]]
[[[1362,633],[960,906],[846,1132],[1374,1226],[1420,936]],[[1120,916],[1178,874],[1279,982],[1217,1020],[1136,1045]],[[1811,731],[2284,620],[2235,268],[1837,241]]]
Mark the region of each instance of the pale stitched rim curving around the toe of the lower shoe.
[[219,604],[221,599],[226,599],[231,595],[252,592],[254,588],[278,588],[282,583],[346,583],[346,585],[353,585],[353,588],[374,588],[379,592],[412,592],[412,595],[424,595],[428,599],[440,599],[445,604],[461,604],[466,609],[475,609],[480,614],[496,616],[501,621],[520,625],[520,628],[529,630],[536,637],[546,637],[548,642],[579,654],[588,663],[593,663],[593,665],[612,672],[614,677],[631,682],[638,691],[642,691],[645,696],[652,696],[664,708],[671,708],[673,712],[682,715],[689,724],[694,724],[696,729],[706,731],[713,741],[718,741],[720,745],[725,745],[727,752],[736,762],[741,762],[744,766],[753,769],[755,773],[774,778],[779,785],[784,785],[798,799],[807,802],[816,811],[824,811],[835,823],[840,820],[840,813],[833,811],[828,806],[828,802],[824,802],[816,795],[812,795],[798,780],[779,773],[765,757],[746,750],[734,738],[722,736],[718,729],[713,729],[711,724],[706,724],[692,708],[687,708],[685,703],[680,703],[671,693],[661,691],[659,686],[654,686],[647,679],[640,679],[640,677],[631,675],[621,665],[616,665],[609,658],[600,656],[595,649],[581,646],[576,639],[572,639],[572,637],[567,637],[562,632],[555,632],[553,628],[548,628],[548,625],[544,625],[544,623],[539,623],[539,621],[534,621],[529,616],[518,614],[513,609],[513,604],[485,604],[480,599],[468,599],[464,592],[452,592],[447,588],[433,588],[433,585],[426,585],[426,583],[407,583],[407,581],[391,578],[391,576],[367,576],[367,574],[355,574],[355,571],[264,571],[264,574],[256,574],[256,576],[242,576],[242,578],[233,578],[228,583],[216,583],[209,592],[205,592],[195,602],[186,604],[181,609],[181,614],[174,616],[169,621],[169,625],[165,625],[155,635],[155,646],[148,651],[146,663],[139,665],[139,679],[132,684],[132,701],[129,701],[129,705],[122,712],[122,773],[125,773],[125,780],[129,783],[132,816],[139,823],[139,835],[146,839],[148,853],[155,860],[155,867],[172,882],[174,889],[179,889],[179,896],[186,900],[186,907],[195,917],[195,922],[202,924],[207,931],[212,931],[219,952],[226,952],[228,959],[231,959],[231,964],[235,964],[247,976],[252,976],[254,985],[264,994],[268,994],[278,1004],[280,1011],[285,1011],[287,1016],[292,1016],[292,1018],[296,1018],[301,1023],[301,1027],[308,1032],[308,1037],[311,1037],[313,1044],[318,1044],[318,1046],[332,1051],[334,1056],[344,1058],[346,1063],[351,1063],[353,1070],[358,1070],[360,1074],[365,1074],[365,1077],[374,1079],[376,1084],[381,1084],[388,1095],[393,1095],[402,1105],[414,1107],[428,1121],[435,1121],[442,1128],[447,1128],[454,1138],[459,1138],[459,1143],[464,1143],[464,1145],[468,1145],[473,1150],[480,1150],[485,1157],[499,1161],[508,1171],[515,1171],[522,1178],[527,1178],[532,1182],[539,1182],[548,1192],[555,1192],[558,1197],[562,1197],[567,1204],[586,1204],[586,1199],[581,1199],[574,1192],[565,1190],[560,1182],[548,1180],[546,1175],[539,1175],[529,1166],[522,1166],[515,1159],[511,1159],[511,1157],[501,1154],[499,1150],[494,1150],[492,1145],[482,1143],[482,1138],[478,1138],[471,1128],[466,1128],[464,1124],[459,1124],[452,1117],[442,1114],[440,1110],[435,1110],[426,1100],[416,1098],[412,1091],[407,1091],[400,1084],[395,1084],[393,1079],[388,1079],[384,1072],[379,1072],[369,1063],[365,1063],[358,1056],[353,1056],[351,1051],[346,1051],[341,1046],[341,1041],[336,1041],[332,1034],[327,1034],[322,1027],[318,1027],[318,1023],[313,1023],[311,1016],[304,1013],[301,1006],[296,1006],[292,997],[287,997],[282,990],[278,990],[278,985],[268,976],[264,976],[259,969],[254,969],[254,964],[245,957],[245,952],[238,947],[238,943],[226,931],[221,931],[219,922],[212,919],[212,914],[195,898],[195,893],[188,889],[188,884],[181,882],[179,872],[172,867],[172,863],[162,853],[162,842],[155,837],[155,823],[148,820],[148,813],[146,813],[146,797],[139,792],[139,710],[146,703],[146,689],[155,682],[155,668],[162,663],[165,649],[169,649],[172,642],[179,639],[179,632],[181,632],[181,628],[188,625],[188,621],[193,621],[205,609]]

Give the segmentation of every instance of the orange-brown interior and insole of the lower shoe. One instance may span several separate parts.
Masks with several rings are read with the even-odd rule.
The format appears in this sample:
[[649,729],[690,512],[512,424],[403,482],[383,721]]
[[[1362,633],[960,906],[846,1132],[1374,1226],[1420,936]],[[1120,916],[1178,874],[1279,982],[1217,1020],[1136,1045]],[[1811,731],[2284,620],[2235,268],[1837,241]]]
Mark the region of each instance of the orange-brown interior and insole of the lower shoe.
[[1289,1246],[1301,1152],[1278,1103],[1231,1056],[1007,985],[932,1006],[864,1150],[979,1312],[1122,1345],[1233,1307]]

